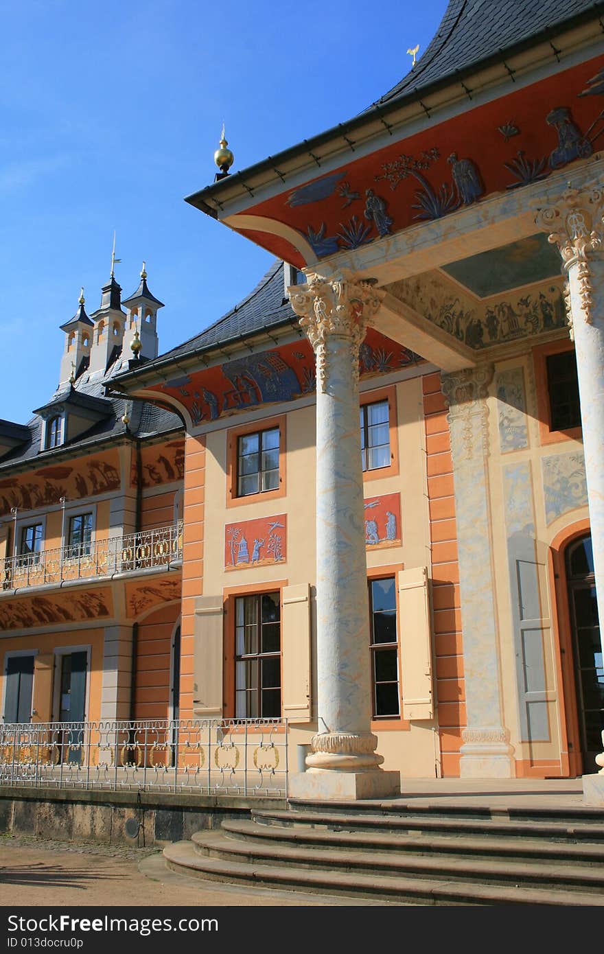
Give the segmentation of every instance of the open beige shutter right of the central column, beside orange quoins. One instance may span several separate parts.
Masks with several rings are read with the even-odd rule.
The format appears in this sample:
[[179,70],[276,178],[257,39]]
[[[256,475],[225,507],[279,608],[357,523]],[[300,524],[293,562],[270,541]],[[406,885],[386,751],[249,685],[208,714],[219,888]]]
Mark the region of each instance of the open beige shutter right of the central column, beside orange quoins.
[[434,706],[427,569],[414,567],[401,570],[398,576],[403,717],[432,718]]

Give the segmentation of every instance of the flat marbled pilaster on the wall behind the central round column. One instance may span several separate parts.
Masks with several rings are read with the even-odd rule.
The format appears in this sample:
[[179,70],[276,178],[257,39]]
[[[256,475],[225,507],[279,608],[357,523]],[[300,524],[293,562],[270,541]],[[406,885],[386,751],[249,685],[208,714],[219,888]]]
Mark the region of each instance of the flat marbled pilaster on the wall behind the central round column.
[[501,704],[495,574],[489,536],[489,384],[492,364],[444,374],[453,459],[467,728],[462,778],[512,778]]

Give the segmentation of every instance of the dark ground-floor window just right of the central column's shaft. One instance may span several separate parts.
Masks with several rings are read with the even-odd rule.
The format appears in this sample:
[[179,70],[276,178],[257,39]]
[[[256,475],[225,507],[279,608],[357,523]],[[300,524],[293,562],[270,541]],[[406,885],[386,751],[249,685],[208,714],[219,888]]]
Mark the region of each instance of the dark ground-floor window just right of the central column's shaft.
[[394,576],[369,580],[373,717],[401,715]]

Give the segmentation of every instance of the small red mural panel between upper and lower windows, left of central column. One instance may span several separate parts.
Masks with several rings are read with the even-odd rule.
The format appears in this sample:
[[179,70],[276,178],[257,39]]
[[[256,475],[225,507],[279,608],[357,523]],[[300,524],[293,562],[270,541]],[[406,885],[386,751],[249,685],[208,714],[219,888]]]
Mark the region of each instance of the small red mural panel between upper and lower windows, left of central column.
[[287,560],[287,516],[241,520],[224,528],[224,569],[245,570]]

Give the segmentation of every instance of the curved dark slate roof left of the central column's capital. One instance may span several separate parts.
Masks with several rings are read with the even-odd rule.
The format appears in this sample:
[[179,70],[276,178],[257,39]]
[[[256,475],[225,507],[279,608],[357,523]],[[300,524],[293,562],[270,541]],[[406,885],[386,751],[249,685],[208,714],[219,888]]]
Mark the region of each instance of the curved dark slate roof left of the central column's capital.
[[256,287],[226,315],[215,321],[188,342],[178,344],[171,351],[153,361],[141,363],[140,369],[149,370],[156,364],[170,363],[185,355],[207,351],[225,342],[236,342],[263,329],[298,321],[284,295],[283,262],[275,261]]

